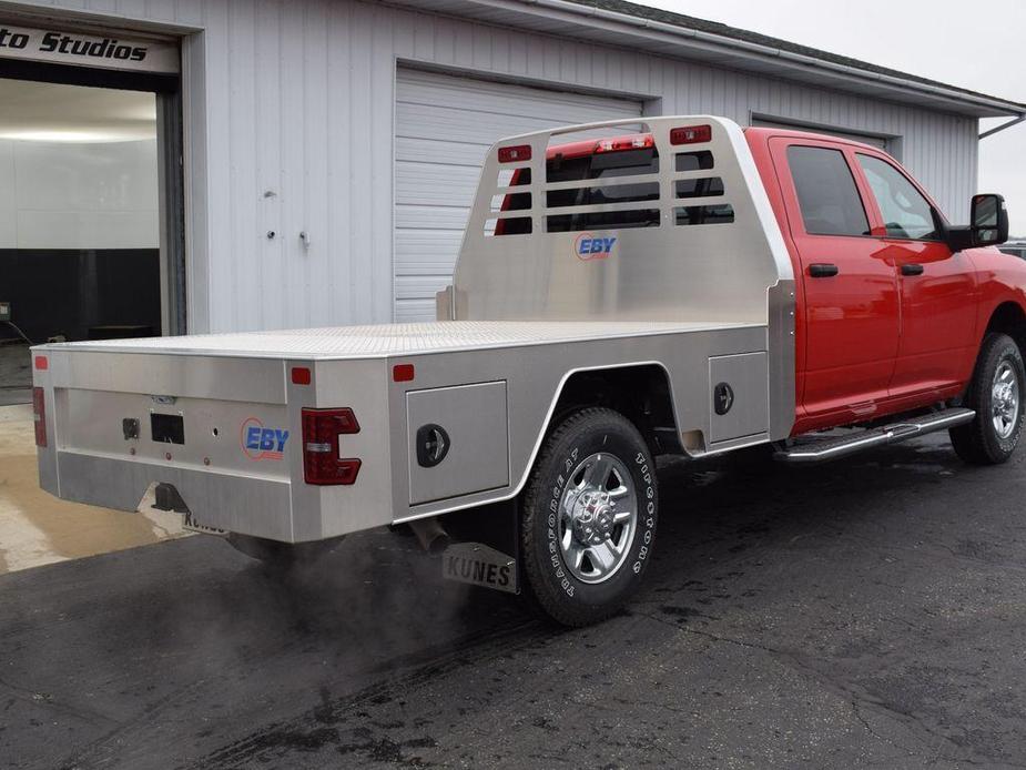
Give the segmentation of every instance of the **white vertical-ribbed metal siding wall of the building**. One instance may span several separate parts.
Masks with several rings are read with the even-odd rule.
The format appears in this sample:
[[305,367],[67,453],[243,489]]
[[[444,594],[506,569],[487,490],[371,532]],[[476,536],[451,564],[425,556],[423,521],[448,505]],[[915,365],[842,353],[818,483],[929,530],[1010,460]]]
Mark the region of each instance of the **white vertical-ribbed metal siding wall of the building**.
[[976,188],[974,119],[593,42],[356,0],[0,2],[31,6],[203,29],[183,44],[193,331],[392,318],[397,60],[901,136],[955,221]]

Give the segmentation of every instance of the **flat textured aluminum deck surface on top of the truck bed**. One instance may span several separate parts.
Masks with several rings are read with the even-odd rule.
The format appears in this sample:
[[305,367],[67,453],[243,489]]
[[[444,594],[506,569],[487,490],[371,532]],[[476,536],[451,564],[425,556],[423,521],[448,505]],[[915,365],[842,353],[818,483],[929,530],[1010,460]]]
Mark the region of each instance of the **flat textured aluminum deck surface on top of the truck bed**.
[[395,355],[520,347],[758,325],[729,322],[441,321],[74,342],[41,347],[62,351],[246,358],[383,358]]

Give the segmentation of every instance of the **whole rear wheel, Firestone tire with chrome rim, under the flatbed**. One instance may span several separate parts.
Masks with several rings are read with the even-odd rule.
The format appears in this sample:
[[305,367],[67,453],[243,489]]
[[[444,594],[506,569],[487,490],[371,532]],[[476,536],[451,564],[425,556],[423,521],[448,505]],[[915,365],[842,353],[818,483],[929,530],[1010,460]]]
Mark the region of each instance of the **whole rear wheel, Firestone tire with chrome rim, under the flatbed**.
[[548,437],[528,480],[520,521],[529,598],[565,626],[616,612],[652,556],[656,465],[638,428],[587,408]]

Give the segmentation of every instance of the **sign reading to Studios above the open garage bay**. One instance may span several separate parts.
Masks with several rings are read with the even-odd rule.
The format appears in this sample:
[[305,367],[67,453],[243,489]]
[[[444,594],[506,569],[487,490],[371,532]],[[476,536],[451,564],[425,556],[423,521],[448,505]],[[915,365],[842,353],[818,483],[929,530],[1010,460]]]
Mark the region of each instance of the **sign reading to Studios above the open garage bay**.
[[0,27],[0,58],[143,72],[179,71],[177,47],[171,42],[23,27]]

